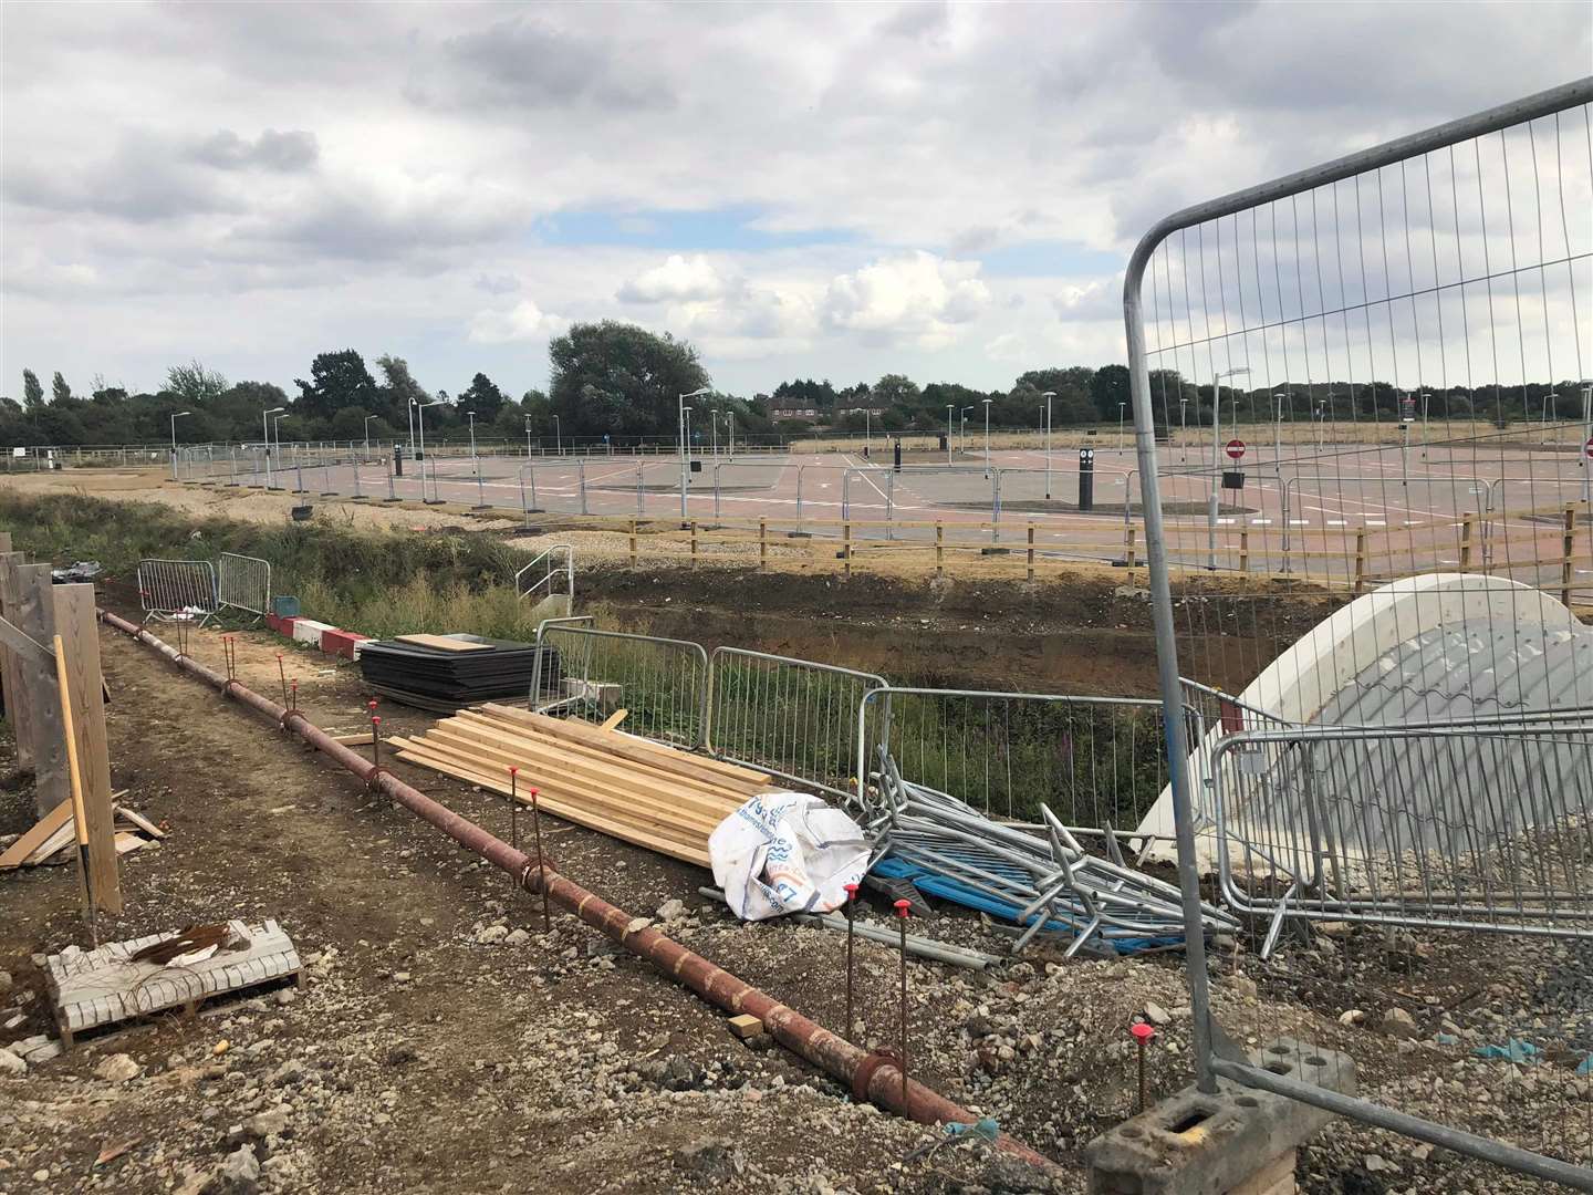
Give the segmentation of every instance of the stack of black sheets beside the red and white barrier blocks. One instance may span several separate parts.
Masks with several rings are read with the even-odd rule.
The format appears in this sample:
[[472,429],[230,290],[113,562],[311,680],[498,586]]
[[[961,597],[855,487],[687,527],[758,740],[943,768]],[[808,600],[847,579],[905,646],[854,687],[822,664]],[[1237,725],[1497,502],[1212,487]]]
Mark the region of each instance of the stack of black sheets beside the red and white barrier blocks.
[[452,634],[467,644],[484,644],[473,652],[449,652],[422,644],[381,639],[360,647],[360,671],[373,693],[405,706],[449,712],[483,701],[519,699],[530,693],[537,653],[542,653],[543,695],[559,687],[559,653],[508,639],[481,639]]

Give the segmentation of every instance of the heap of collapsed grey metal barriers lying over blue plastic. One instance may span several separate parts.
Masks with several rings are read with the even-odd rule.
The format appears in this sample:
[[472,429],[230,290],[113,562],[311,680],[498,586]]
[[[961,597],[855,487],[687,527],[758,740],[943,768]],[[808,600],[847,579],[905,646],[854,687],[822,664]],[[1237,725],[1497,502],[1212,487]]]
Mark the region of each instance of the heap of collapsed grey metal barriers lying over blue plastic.
[[[881,747],[878,787],[862,805],[875,843],[875,875],[1015,921],[1021,950],[1037,934],[1070,937],[1082,950],[1134,953],[1184,940],[1179,889],[1123,862],[1107,827],[1106,857],[1090,854],[1045,806],[1045,836],[994,822],[949,793],[902,779]],[[875,795],[878,793],[878,795]],[[1238,929],[1201,907],[1207,932]]]

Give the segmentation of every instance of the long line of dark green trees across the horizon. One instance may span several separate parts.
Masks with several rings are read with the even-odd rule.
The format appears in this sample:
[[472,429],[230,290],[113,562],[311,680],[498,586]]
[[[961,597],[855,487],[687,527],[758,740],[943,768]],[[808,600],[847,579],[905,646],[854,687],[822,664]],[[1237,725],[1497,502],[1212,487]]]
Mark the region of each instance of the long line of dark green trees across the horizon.
[[[717,390],[696,349],[669,333],[632,323],[577,323],[548,349],[546,394],[505,394],[484,373],[460,390],[430,392],[401,357],[374,358],[376,373],[355,349],[322,352],[309,378],[288,394],[274,382],[231,382],[194,360],[167,370],[155,392],[129,394],[96,376],[88,395],[75,394],[56,371],[49,397],[33,370],[22,371],[22,402],[0,397],[0,445],[167,443],[172,419],[180,443],[258,441],[263,413],[280,408],[284,440],[397,440],[424,419],[429,440],[460,440],[473,427],[481,440],[610,440],[615,445],[677,435],[680,395],[693,395],[693,438],[715,429],[738,438],[792,437],[828,427],[841,432],[937,432],[970,427],[1039,427],[1050,402],[1051,424],[1114,424],[1133,417],[1128,368],[1085,365],[1029,370],[1005,390],[959,382],[919,386],[898,373],[876,382],[835,387],[828,379],[784,381],[750,398]],[[1555,397],[1558,394],[1558,397]],[[1050,395],[1050,398],[1047,398]],[[1580,384],[1532,382],[1513,387],[1435,387],[1397,390],[1386,382],[1295,382],[1268,389],[1214,390],[1172,370],[1150,374],[1152,416],[1158,425],[1207,425],[1214,395],[1222,421],[1271,419],[1389,421],[1400,417],[1488,419],[1494,422],[1577,417]],[[424,408],[424,411],[422,411]],[[814,416],[785,417],[790,411]]]

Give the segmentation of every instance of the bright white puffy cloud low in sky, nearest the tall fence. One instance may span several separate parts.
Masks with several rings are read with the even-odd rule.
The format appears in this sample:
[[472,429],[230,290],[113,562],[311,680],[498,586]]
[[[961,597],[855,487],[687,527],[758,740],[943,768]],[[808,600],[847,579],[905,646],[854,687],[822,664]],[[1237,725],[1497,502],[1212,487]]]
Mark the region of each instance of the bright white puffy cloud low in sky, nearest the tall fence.
[[822,319],[830,328],[884,343],[935,349],[989,306],[978,261],[948,261],[922,250],[883,258],[830,282]]

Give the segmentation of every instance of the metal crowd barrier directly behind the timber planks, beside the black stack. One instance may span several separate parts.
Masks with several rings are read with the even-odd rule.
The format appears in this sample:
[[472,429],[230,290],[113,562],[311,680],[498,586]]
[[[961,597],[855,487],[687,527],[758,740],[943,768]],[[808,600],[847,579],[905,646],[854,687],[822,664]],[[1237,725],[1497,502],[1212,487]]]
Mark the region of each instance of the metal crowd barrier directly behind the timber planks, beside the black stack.
[[540,709],[599,723],[623,709],[631,735],[703,746],[709,682],[701,644],[558,623],[545,623],[537,642],[558,650],[562,674],[561,692],[538,701]]

